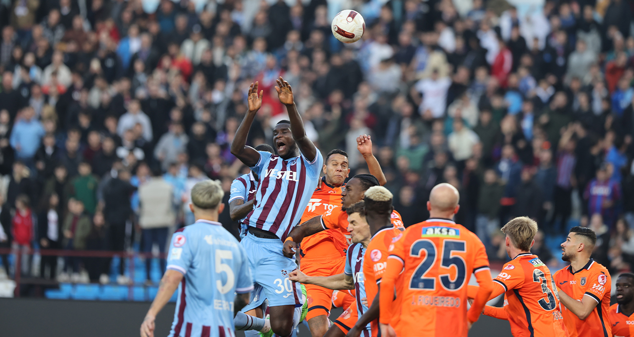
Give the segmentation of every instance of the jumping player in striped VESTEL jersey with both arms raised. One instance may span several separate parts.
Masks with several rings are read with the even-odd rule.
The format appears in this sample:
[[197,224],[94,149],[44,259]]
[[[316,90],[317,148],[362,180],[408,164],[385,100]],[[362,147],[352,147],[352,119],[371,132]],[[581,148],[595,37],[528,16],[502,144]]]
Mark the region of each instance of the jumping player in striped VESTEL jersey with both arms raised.
[[[270,330],[262,331],[266,325],[263,317],[247,316],[243,312],[236,314],[234,324],[236,329],[248,326],[285,337],[304,319],[303,304],[306,301],[301,285],[288,279],[288,273],[297,269],[297,264],[294,259],[281,254],[282,242],[301,219],[318,183],[323,157],[306,136],[290,85],[281,77],[276,81],[278,99],[287,107],[289,119],[278,122],[273,130],[273,144],[278,155],[256,151],[246,145],[249,129],[262,106],[263,92],[258,95],[257,82],[249,88],[249,111],[231,143],[231,154],[249,166],[260,180],[254,209],[244,220],[249,226],[248,234],[240,242],[249,257],[256,283],[252,303],[243,308],[243,312],[260,307],[266,298]],[[259,291],[258,286],[261,287]]]

